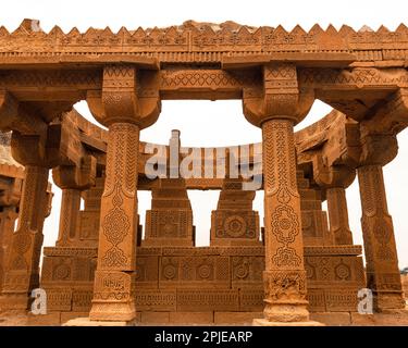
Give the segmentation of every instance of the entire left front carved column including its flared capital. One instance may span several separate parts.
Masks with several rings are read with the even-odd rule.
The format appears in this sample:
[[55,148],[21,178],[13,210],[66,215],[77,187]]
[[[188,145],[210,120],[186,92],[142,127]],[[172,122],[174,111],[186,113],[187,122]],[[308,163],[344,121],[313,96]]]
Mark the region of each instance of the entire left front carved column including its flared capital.
[[132,65],[106,66],[101,96],[87,98],[94,115],[109,127],[90,320],[126,322],[136,315],[139,132],[156,121],[160,110],[157,98],[139,98],[136,74]]

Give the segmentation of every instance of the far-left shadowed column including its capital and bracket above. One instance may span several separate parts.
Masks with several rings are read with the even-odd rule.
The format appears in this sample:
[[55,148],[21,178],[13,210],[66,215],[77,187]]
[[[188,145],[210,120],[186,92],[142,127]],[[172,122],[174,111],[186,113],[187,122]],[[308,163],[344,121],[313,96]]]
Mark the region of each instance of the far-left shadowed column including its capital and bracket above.
[[[25,166],[25,179],[20,201],[18,226],[14,232],[2,290],[2,309],[27,310],[30,293],[39,285],[39,259],[42,225],[50,212],[52,195],[48,192],[49,167],[55,158],[49,156],[53,142],[48,142],[49,125],[39,111],[27,108],[9,91],[0,91],[0,128],[12,129],[11,153]],[[52,113],[45,112],[49,119]]]

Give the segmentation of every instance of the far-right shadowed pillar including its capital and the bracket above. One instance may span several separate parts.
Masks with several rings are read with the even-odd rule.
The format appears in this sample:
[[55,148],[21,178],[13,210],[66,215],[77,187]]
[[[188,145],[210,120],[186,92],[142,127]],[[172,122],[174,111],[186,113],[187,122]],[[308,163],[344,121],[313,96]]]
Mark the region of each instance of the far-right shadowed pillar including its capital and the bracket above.
[[361,150],[358,181],[367,287],[376,311],[405,308],[392,216],[388,213],[383,166],[398,153],[396,134],[407,125],[408,90],[400,88],[375,105],[359,123]]

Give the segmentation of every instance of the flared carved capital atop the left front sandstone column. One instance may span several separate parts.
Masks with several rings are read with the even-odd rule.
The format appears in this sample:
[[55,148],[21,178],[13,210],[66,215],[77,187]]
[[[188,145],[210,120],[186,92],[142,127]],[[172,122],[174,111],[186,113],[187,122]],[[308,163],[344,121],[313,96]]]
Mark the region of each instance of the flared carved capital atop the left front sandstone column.
[[137,67],[129,64],[106,65],[102,89],[88,91],[86,99],[95,119],[107,127],[132,123],[146,128],[161,110],[158,88],[141,87]]

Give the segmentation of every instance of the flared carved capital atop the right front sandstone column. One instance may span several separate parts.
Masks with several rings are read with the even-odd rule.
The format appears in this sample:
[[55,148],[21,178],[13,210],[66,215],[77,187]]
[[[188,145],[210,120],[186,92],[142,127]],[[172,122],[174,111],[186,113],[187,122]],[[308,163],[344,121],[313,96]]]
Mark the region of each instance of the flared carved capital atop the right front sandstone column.
[[243,107],[248,122],[260,127],[272,119],[299,123],[314,101],[312,89],[300,90],[294,63],[270,63],[262,66],[263,86],[244,90]]

